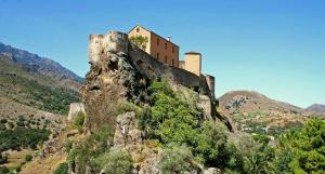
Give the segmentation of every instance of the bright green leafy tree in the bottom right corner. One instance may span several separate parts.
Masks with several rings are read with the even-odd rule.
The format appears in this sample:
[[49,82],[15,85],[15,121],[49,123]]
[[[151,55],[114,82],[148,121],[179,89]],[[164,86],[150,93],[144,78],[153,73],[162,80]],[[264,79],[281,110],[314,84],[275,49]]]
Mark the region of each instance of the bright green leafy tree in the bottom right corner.
[[[277,153],[280,172],[325,173],[325,121],[314,118],[301,131],[290,131],[280,137]],[[282,165],[281,162],[289,162]]]

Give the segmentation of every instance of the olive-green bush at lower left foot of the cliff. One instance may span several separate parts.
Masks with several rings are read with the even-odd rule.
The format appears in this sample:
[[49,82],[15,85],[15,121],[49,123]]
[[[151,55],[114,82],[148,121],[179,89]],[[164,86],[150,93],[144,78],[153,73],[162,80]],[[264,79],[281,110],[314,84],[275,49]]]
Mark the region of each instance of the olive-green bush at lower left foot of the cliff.
[[78,171],[84,173],[86,166],[91,162],[92,158],[99,157],[101,153],[108,151],[113,145],[113,132],[110,126],[103,125],[95,130],[80,145],[74,147],[68,160],[78,163]]

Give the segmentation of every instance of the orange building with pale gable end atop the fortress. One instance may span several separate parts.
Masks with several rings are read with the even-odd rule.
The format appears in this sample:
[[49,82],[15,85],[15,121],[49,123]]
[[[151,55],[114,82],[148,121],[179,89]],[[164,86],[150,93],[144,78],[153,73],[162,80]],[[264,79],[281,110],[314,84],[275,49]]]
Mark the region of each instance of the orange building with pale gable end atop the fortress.
[[179,67],[180,48],[177,44],[139,25],[133,27],[128,34],[129,38],[136,36],[147,38],[148,42],[144,51],[151,56],[162,64]]

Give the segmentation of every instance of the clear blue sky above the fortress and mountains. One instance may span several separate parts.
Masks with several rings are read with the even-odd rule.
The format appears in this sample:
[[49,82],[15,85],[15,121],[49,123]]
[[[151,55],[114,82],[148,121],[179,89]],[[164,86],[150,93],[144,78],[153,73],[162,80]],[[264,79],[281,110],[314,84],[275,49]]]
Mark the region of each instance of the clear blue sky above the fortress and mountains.
[[325,104],[323,0],[0,0],[0,42],[51,57],[79,76],[88,37],[135,24],[203,54],[216,94],[253,90]]

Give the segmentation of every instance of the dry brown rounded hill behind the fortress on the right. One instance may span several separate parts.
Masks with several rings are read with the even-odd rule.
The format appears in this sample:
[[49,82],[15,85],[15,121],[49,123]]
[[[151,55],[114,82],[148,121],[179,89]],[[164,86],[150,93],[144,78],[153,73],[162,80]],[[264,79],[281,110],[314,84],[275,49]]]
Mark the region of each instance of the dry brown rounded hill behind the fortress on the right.
[[233,91],[222,95],[218,109],[232,120],[237,131],[272,135],[289,128],[301,128],[311,117],[302,108],[252,91]]

